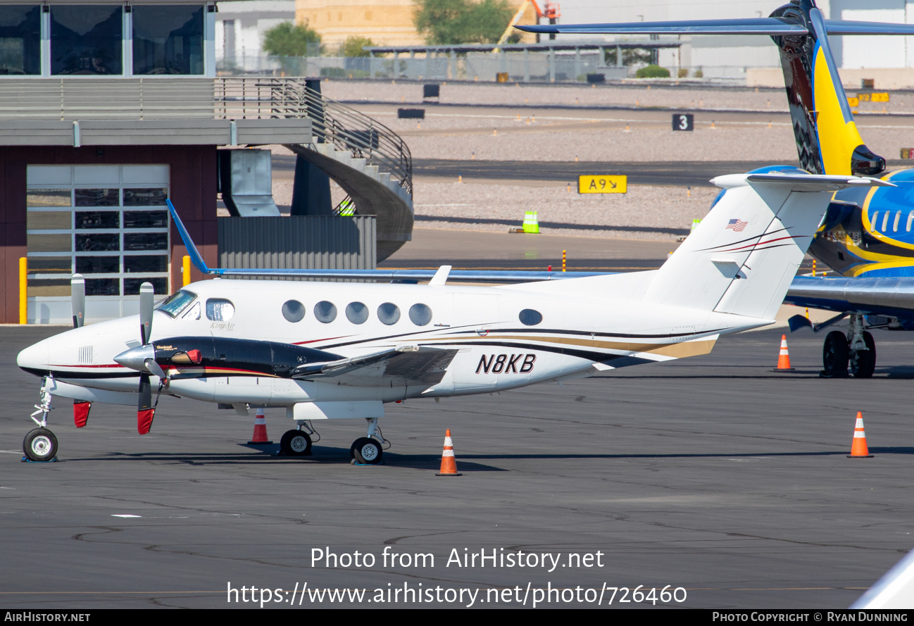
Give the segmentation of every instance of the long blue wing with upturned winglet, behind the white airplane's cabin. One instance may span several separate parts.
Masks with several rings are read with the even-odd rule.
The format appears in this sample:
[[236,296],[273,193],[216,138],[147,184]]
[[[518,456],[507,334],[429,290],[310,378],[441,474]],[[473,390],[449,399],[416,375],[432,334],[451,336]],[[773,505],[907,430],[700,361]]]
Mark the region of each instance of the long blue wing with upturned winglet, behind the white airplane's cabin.
[[[614,272],[608,271],[481,271],[481,270],[455,270],[445,272],[440,270],[294,270],[294,269],[234,269],[210,268],[203,256],[197,250],[194,240],[184,228],[184,222],[178,217],[175,205],[171,200],[165,200],[168,210],[175,222],[175,228],[184,240],[187,255],[197,270],[212,276],[297,276],[301,278],[320,279],[367,279],[374,281],[390,282],[417,282],[430,281],[436,274],[444,281],[470,281],[470,282],[531,282],[531,281],[560,281],[569,278],[585,278],[588,276],[602,276]],[[448,267],[448,266],[444,266]]]

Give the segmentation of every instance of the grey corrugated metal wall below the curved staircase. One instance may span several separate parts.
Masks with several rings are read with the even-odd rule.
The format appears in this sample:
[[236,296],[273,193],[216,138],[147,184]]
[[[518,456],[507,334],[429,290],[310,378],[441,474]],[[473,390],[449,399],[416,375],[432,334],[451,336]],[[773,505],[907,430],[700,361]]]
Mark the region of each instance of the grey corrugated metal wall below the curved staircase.
[[374,216],[218,218],[218,245],[220,268],[377,267]]

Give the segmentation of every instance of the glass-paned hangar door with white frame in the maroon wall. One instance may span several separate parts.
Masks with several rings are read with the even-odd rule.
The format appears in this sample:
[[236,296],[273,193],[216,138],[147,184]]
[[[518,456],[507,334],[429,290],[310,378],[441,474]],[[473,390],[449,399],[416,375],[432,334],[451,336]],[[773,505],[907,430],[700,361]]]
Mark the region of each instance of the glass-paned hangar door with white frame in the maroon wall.
[[168,165],[28,165],[29,324],[68,323],[69,279],[86,320],[136,313],[140,284],[170,292]]

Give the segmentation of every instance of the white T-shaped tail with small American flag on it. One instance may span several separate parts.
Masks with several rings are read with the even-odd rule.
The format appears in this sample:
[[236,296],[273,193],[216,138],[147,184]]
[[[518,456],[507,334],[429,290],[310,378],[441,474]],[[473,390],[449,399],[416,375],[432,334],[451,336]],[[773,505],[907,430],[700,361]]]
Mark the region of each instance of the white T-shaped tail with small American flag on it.
[[834,191],[892,186],[793,167],[712,182],[723,195],[657,271],[646,302],[773,319]]

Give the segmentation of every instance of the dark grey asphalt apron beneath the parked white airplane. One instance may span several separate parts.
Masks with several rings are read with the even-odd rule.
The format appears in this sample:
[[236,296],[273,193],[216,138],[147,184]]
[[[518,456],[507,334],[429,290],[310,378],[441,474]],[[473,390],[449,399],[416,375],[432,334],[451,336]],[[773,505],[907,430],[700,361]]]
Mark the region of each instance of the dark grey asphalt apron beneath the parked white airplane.
[[[350,464],[356,421],[318,424],[314,456],[285,458],[246,443],[253,415],[163,398],[141,437],[128,407],[93,407],[76,430],[61,398],[58,462],[20,462],[38,379],[15,355],[61,330],[0,328],[5,609],[260,606],[251,587],[273,608],[358,603],[302,589],[368,589],[366,608],[469,606],[473,589],[473,607],[555,608],[626,587],[611,607],[651,605],[639,585],[682,589],[658,606],[846,608],[914,545],[908,334],[876,333],[869,380],[819,378],[808,331],[789,336],[796,370],[774,373],[768,330],[561,386],[409,400],[381,420],[379,466]],[[872,459],[846,457],[857,410]],[[268,410],[273,441],[289,426]],[[460,477],[435,476],[445,429]],[[480,550],[525,567],[462,567]]]

